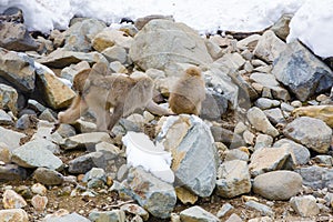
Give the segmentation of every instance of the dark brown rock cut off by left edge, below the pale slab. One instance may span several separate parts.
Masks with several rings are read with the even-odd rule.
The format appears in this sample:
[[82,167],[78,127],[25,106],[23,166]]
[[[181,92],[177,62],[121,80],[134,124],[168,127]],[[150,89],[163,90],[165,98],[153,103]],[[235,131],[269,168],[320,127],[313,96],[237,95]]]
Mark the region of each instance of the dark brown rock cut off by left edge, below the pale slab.
[[0,181],[22,181],[27,175],[27,170],[17,164],[0,165]]

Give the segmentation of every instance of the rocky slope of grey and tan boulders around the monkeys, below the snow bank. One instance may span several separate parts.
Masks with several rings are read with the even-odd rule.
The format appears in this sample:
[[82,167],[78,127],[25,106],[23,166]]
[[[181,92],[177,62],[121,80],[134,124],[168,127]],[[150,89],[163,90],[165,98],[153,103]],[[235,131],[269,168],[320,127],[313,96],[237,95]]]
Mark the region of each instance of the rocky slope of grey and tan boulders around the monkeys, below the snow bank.
[[[285,43],[290,17],[206,37],[172,18],[118,30],[74,18],[50,34],[22,21],[0,16],[0,221],[333,221],[332,60]],[[87,113],[51,133],[73,77],[95,62],[144,72],[167,108],[180,73],[200,67],[200,118],[144,111],[111,138]],[[128,131],[163,142],[176,183],[128,169]]]

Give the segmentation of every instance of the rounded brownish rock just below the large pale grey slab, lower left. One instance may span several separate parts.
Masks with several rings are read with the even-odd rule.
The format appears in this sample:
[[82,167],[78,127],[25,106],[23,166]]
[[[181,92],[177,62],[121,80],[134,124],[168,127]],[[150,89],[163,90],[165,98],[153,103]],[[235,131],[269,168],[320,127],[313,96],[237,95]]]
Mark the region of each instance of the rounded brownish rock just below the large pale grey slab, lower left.
[[33,172],[33,179],[44,185],[60,185],[63,182],[61,173],[47,168],[38,168]]

